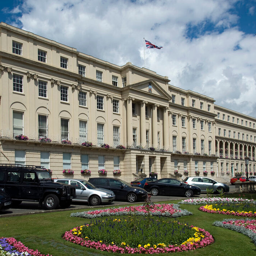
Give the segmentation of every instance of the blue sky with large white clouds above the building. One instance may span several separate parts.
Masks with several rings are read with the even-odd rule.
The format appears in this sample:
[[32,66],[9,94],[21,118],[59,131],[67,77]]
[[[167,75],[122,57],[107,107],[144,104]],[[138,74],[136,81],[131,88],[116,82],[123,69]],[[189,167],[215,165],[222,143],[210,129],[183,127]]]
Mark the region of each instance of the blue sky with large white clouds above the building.
[[2,0],[0,21],[256,117],[256,0]]

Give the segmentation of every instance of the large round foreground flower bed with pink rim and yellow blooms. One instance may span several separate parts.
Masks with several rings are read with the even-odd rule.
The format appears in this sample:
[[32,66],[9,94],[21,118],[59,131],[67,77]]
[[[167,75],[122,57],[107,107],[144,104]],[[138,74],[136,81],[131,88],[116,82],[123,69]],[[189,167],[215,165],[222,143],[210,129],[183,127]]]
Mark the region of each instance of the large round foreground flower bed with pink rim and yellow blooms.
[[[107,223],[105,223],[105,221]],[[161,230],[162,225],[163,225],[163,226],[167,227],[167,230],[168,230],[163,235],[167,235],[167,237],[169,237],[169,236],[171,236],[171,234],[174,231],[174,229],[172,229],[171,227],[173,227],[173,225],[174,226],[178,225],[178,226],[180,226],[180,228],[178,230],[176,230],[177,234],[182,232],[181,230],[184,230],[184,233],[186,233],[186,231],[188,231],[186,233],[187,236],[186,235],[184,236],[184,234],[183,234],[183,242],[178,242],[179,244],[177,244],[176,242],[174,242],[174,244],[167,244],[165,242],[155,242],[155,243],[153,242],[153,244],[150,244],[150,242],[148,242],[147,244],[143,244],[141,242],[139,244],[138,242],[136,242],[136,246],[135,245],[130,246],[127,244],[126,241],[120,242],[123,239],[125,240],[125,237],[127,237],[127,236],[120,237],[120,234],[118,236],[117,231],[121,229],[120,226],[122,226],[122,229],[123,229],[124,228],[123,225],[126,224],[124,226],[125,226],[126,230],[128,229],[127,230],[128,236],[134,237],[135,234],[137,236],[136,231],[138,231],[138,229],[134,229],[133,222],[130,223],[126,219],[122,219],[122,220],[121,219],[110,219],[110,220],[106,219],[105,221],[99,220],[94,223],[86,224],[86,225],[83,225],[80,227],[75,227],[74,229],[66,231],[63,238],[65,240],[73,242],[75,244],[79,244],[82,246],[86,246],[88,248],[93,248],[93,249],[97,249],[97,250],[101,250],[101,251],[118,252],[118,253],[146,253],[146,254],[147,253],[153,254],[153,253],[169,253],[169,252],[189,251],[189,250],[205,247],[214,242],[214,239],[211,236],[211,234],[203,229],[200,229],[199,227],[188,226],[187,224],[181,224],[177,221],[171,223],[168,221],[166,222],[166,221],[155,220],[150,223],[151,228],[154,230],[153,233],[157,233],[157,231],[159,229]],[[110,227],[111,230],[115,229],[114,228],[115,225],[117,226],[117,228],[115,229],[115,233],[114,233],[114,236],[117,237],[117,241],[115,241],[115,240],[112,241],[112,236],[108,234],[108,231],[110,230],[110,229],[108,229],[109,225],[112,225]],[[102,236],[102,231],[98,235],[104,237],[106,241],[104,241],[104,238],[102,238],[102,240],[99,240],[97,238],[98,241],[91,240],[90,236],[97,237],[97,234],[96,234],[96,236],[94,236],[95,233],[97,233],[97,232],[91,233],[92,227],[96,227],[96,230],[97,230],[97,228],[99,229],[99,227],[101,227],[101,230],[102,230],[102,227],[104,227],[104,226],[105,226],[105,230],[107,229],[105,231],[105,234],[107,236],[104,236],[104,235]],[[147,227],[145,227],[144,231],[148,231],[146,228]],[[143,230],[142,230],[142,233],[143,233]],[[161,232],[159,232],[159,233],[161,233]],[[184,238],[184,237],[187,237],[187,238]],[[155,236],[153,234],[153,236],[145,237],[145,239],[143,239],[142,241],[150,241],[150,240],[152,241],[152,239],[154,241],[154,238],[155,238]],[[110,242],[110,241],[112,241],[112,242]],[[130,240],[130,241],[132,241],[132,240]]]

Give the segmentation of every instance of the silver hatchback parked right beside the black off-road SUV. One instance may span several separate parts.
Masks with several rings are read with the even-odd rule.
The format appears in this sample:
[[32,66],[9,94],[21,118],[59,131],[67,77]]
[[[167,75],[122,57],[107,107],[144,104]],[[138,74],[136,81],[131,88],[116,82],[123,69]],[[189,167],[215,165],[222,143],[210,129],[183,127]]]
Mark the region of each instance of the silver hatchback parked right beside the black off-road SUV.
[[72,201],[88,202],[91,206],[97,206],[101,203],[111,203],[116,198],[113,191],[104,188],[96,188],[86,180],[54,178],[54,182],[75,186],[76,198],[72,199]]

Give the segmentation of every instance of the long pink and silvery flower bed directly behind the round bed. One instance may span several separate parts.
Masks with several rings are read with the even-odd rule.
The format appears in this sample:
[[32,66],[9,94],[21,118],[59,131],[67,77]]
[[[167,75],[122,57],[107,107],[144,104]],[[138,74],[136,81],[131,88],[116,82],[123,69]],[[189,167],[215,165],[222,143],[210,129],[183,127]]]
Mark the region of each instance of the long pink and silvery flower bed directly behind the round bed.
[[182,210],[178,204],[154,204],[146,206],[130,206],[130,207],[119,207],[119,208],[105,208],[93,211],[84,211],[71,213],[71,217],[81,218],[98,218],[104,216],[116,216],[116,215],[152,215],[162,217],[173,217],[177,218],[185,215],[192,215],[192,212]]

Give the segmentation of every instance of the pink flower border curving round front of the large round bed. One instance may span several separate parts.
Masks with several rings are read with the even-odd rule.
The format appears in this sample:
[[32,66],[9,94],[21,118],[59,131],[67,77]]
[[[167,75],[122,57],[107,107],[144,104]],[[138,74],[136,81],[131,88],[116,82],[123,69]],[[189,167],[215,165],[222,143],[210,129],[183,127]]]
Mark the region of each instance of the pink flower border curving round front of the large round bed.
[[[76,227],[74,229],[78,229],[81,228],[80,227]],[[193,227],[193,226],[191,226]],[[63,239],[69,241],[69,242],[73,242],[74,244],[79,244],[82,246],[86,246],[88,248],[92,248],[92,249],[97,249],[97,250],[101,250],[101,251],[107,251],[107,252],[118,252],[118,253],[148,253],[148,254],[153,254],[153,253],[170,253],[170,252],[182,252],[182,251],[191,251],[194,249],[198,249],[198,248],[202,248],[205,247],[207,245],[210,245],[214,242],[214,238],[212,237],[212,235],[204,230],[204,229],[200,229],[199,227],[193,227],[196,231],[200,231],[203,233],[203,239],[202,240],[198,240],[197,238],[189,238],[187,241],[183,242],[181,245],[162,245],[159,244],[159,246],[161,247],[150,247],[150,244],[144,245],[144,246],[138,246],[138,248],[132,248],[128,245],[126,245],[125,243],[123,244],[123,247],[121,246],[117,246],[114,244],[103,244],[102,241],[91,241],[91,240],[86,240],[82,237],[78,237],[75,234],[72,233],[72,229],[69,231],[66,231],[64,236],[62,237]]]

